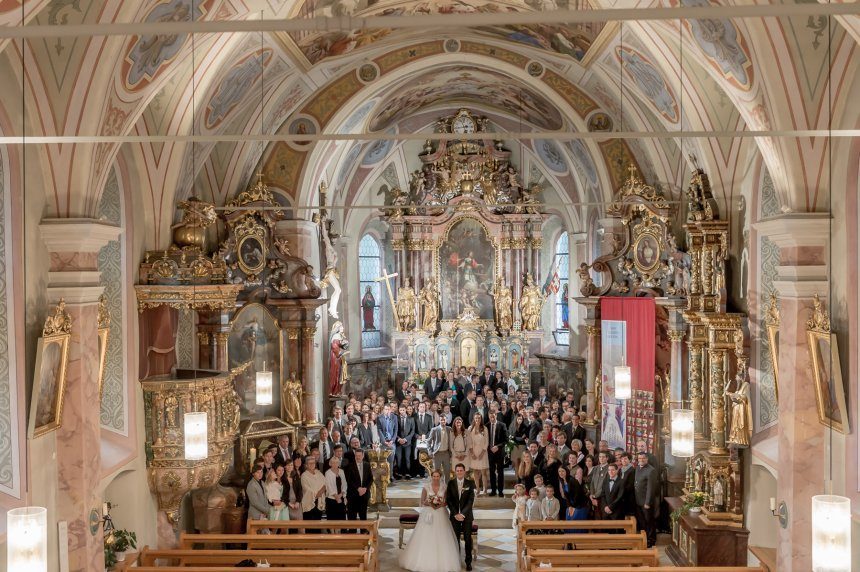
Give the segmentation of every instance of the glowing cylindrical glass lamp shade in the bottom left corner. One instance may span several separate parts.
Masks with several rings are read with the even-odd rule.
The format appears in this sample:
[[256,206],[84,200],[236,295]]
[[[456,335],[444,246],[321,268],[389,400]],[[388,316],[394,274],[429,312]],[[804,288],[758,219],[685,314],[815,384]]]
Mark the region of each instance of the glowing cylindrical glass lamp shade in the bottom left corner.
[[15,508],[6,513],[6,564],[9,572],[47,572],[48,509]]

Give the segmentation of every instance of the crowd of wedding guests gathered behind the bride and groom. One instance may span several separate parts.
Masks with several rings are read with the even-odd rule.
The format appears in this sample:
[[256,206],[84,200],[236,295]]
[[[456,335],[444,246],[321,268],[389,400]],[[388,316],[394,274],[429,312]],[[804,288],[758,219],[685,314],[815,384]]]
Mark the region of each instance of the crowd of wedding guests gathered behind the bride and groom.
[[504,469],[516,476],[514,523],[521,520],[623,519],[635,516],[656,541],[656,460],[586,437],[572,392],[533,395],[509,370],[487,366],[431,370],[395,391],[347,396],[312,443],[295,449],[284,435],[254,463],[249,518],[364,520],[372,474],[366,451],[389,451],[392,483],[422,477],[426,451],[447,480],[462,463],[478,496],[504,496]]

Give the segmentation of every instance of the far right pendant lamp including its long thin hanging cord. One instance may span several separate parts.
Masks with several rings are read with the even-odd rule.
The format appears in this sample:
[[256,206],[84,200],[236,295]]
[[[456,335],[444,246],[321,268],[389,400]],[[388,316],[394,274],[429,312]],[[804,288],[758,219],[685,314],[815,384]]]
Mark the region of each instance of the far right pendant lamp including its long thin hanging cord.
[[[833,212],[833,99],[832,99],[832,17],[827,16],[827,154],[829,212]],[[833,219],[828,219],[828,235],[833,236]],[[829,249],[829,268],[833,268],[833,249]],[[832,297],[831,297],[832,299]],[[833,335],[833,334],[831,334]],[[839,356],[835,356],[839,359]],[[830,368],[833,371],[833,352]],[[851,499],[833,494],[833,415],[828,412],[830,429],[830,494],[812,497],[812,570],[813,572],[851,572]]]

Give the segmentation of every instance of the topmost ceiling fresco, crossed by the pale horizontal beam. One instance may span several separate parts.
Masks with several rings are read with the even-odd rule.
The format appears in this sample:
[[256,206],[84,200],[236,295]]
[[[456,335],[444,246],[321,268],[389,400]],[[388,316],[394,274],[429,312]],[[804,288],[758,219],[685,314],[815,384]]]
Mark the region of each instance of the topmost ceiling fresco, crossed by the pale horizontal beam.
[[[590,0],[305,0],[293,18],[319,16],[411,16],[421,14],[471,14],[531,12],[558,8],[588,10]],[[563,54],[581,61],[603,23],[574,25],[527,25],[477,28],[479,33],[533,48]],[[342,56],[393,34],[394,30],[312,31],[290,33],[290,37],[311,64]]]

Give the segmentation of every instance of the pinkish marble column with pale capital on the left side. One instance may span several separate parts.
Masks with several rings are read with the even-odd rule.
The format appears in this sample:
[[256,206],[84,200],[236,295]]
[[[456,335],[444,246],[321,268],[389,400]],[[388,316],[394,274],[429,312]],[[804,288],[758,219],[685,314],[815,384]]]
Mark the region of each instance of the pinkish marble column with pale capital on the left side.
[[[72,338],[66,368],[62,424],[54,435],[60,494],[51,520],[69,524],[70,572],[104,570],[101,528],[90,533],[90,513],[101,514],[101,424],[99,420],[98,252],[121,229],[93,219],[45,219],[39,225],[50,253],[48,301],[60,299],[72,319]],[[50,470],[48,463],[39,470]]]

